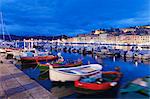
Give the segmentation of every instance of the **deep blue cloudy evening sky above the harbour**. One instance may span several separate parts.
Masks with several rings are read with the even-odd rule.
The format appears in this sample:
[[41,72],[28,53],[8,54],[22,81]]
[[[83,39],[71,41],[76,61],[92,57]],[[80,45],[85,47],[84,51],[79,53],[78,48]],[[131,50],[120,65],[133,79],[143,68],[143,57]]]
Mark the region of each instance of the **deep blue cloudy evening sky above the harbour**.
[[0,0],[0,11],[5,31],[23,36],[150,24],[150,0]]

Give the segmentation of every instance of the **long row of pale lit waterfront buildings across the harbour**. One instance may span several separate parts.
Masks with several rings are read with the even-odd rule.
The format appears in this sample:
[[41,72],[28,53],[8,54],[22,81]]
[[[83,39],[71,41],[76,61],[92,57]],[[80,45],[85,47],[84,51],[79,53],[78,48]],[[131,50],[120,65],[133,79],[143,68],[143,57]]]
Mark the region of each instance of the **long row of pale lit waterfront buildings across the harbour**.
[[150,42],[150,35],[119,35],[112,34],[94,34],[80,35],[67,39],[67,42],[72,43],[108,43],[108,44],[146,44]]

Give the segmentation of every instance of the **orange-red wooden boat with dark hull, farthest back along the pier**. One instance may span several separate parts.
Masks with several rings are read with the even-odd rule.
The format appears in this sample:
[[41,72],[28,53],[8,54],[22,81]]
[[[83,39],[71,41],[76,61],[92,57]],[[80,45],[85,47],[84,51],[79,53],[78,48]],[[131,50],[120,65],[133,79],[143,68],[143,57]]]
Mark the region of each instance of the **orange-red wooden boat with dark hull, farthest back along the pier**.
[[35,56],[35,57],[21,57],[22,64],[37,64],[36,61],[52,61],[57,59],[57,56]]

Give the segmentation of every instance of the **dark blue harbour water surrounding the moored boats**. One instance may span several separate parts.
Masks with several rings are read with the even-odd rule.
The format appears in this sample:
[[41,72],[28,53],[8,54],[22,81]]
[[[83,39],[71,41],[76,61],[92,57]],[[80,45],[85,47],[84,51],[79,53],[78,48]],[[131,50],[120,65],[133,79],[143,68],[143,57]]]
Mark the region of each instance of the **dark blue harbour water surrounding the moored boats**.
[[[53,51],[52,54],[56,55],[58,52]],[[48,78],[48,74],[40,74],[40,71],[38,68],[35,67],[27,67],[27,66],[21,66],[20,63],[16,63],[16,66],[21,69],[23,72],[25,72],[30,78],[36,80],[39,84],[41,84],[44,88],[52,92],[52,94],[56,95],[57,97],[61,99],[78,99],[78,98],[122,98],[122,95],[119,93],[119,89],[122,88],[124,85],[126,85],[128,82],[145,77],[150,76],[150,67],[149,63],[135,63],[132,59],[122,59],[122,58],[97,58],[92,55],[82,55],[78,53],[65,53],[61,52],[64,59],[82,59],[83,64],[90,63],[99,63],[103,66],[103,71],[112,71],[115,67],[120,67],[121,72],[123,74],[123,77],[120,81],[120,85],[116,88],[113,88],[112,90],[108,92],[96,92],[91,93],[87,91],[81,91],[77,90],[73,86],[73,82],[67,82],[67,83],[56,83],[51,82]],[[137,96],[135,94],[131,94],[130,97],[140,98],[141,96]],[[144,98],[147,98],[146,96],[143,96]],[[143,98],[141,97],[141,98]]]

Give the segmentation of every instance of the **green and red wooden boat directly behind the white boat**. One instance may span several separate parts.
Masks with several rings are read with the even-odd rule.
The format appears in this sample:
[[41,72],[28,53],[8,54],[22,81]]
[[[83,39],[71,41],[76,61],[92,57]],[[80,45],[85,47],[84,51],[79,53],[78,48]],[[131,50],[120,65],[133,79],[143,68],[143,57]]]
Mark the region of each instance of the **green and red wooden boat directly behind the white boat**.
[[53,63],[53,64],[41,64],[38,62],[38,68],[40,69],[40,72],[47,71],[49,69],[49,65],[52,65],[53,68],[68,68],[68,67],[76,67],[82,65],[82,61],[74,61],[72,63]]

